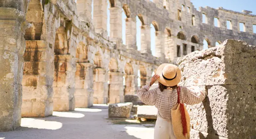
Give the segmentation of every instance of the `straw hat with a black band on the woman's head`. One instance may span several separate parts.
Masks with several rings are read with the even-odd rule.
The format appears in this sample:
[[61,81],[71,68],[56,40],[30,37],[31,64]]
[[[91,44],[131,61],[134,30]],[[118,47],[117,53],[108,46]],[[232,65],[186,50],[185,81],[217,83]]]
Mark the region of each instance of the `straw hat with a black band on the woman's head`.
[[161,64],[156,74],[160,76],[157,80],[165,86],[175,86],[181,81],[181,70],[173,64]]

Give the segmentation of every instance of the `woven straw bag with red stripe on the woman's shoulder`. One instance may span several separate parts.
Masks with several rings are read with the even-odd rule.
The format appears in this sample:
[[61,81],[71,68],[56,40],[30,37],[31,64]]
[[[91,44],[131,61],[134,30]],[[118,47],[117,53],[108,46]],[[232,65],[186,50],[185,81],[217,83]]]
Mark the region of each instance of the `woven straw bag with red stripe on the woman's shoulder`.
[[171,109],[172,126],[177,139],[190,138],[190,116],[184,104],[180,103],[180,87],[177,87],[178,103]]

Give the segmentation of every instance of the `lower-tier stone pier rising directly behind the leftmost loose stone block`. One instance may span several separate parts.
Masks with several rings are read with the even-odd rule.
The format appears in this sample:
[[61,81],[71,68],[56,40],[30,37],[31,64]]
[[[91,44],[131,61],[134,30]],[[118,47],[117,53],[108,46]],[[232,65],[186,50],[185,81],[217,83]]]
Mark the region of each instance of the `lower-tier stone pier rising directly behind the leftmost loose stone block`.
[[124,102],[123,74],[109,72],[109,103]]

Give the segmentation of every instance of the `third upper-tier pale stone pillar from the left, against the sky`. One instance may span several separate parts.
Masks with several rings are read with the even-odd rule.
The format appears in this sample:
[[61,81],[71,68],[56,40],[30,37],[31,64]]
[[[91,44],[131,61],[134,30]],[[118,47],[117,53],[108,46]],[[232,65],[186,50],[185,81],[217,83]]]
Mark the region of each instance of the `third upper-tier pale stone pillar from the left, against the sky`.
[[110,37],[122,38],[122,9],[111,7],[110,11]]

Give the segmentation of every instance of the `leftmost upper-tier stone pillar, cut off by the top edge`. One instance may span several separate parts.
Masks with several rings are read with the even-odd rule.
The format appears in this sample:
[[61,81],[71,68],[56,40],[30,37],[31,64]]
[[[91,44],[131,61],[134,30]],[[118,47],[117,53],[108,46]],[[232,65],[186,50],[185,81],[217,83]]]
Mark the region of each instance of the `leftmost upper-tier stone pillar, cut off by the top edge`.
[[[97,1],[97,0],[94,0]],[[82,20],[91,22],[92,0],[77,0],[77,13]]]

